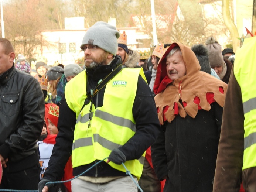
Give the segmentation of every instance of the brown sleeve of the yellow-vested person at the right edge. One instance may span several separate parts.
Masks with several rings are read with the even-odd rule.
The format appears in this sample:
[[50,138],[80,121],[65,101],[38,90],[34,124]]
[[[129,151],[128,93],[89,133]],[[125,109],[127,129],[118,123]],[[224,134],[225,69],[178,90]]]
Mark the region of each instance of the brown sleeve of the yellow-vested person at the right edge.
[[214,192],[238,192],[240,189],[243,166],[243,122],[241,88],[232,68],[223,108]]

